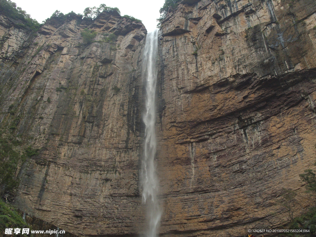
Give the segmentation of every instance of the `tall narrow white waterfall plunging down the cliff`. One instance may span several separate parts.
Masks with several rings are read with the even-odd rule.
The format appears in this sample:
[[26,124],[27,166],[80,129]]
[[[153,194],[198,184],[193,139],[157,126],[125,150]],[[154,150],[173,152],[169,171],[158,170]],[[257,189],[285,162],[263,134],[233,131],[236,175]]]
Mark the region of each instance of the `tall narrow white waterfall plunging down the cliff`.
[[148,33],[144,50],[143,76],[146,79],[146,113],[144,158],[142,162],[143,202],[147,208],[149,223],[146,237],[155,237],[159,227],[161,210],[158,205],[158,177],[154,163],[156,154],[156,107],[155,92],[157,81],[158,30]]

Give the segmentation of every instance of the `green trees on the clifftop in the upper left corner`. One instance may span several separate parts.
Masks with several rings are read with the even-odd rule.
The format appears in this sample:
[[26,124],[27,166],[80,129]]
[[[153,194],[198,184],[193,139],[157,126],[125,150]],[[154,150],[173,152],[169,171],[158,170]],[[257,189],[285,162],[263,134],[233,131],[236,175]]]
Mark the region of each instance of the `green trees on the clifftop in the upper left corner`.
[[10,0],[0,0],[0,14],[10,17],[14,20],[21,21],[21,23],[15,23],[16,27],[30,29],[37,31],[40,28],[40,23],[35,19],[32,19],[26,11],[23,11],[20,7],[16,6],[16,3]]

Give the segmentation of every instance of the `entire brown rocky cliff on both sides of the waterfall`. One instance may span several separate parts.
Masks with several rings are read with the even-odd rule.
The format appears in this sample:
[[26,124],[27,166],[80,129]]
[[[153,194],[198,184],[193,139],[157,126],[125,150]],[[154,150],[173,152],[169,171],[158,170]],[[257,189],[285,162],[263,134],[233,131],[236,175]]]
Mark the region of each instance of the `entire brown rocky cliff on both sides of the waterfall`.
[[[81,32],[96,32],[85,44]],[[143,233],[139,21],[70,16],[36,33],[0,16],[0,122],[38,154],[14,205],[69,233]],[[182,0],[159,33],[162,236],[243,236],[289,220],[279,205],[314,168],[316,2]]]

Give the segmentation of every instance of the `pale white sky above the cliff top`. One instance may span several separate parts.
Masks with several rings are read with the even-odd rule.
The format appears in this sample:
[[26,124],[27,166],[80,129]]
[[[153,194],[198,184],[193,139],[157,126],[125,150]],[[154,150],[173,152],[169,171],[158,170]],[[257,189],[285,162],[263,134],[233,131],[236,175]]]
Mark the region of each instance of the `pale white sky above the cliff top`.
[[49,18],[54,11],[59,10],[64,14],[74,11],[83,14],[86,7],[98,7],[101,3],[105,3],[108,7],[117,7],[121,11],[121,15],[131,15],[142,20],[148,32],[153,31],[157,26],[156,19],[159,18],[159,9],[163,6],[164,0],[11,0],[18,7],[30,14],[33,19],[38,22]]

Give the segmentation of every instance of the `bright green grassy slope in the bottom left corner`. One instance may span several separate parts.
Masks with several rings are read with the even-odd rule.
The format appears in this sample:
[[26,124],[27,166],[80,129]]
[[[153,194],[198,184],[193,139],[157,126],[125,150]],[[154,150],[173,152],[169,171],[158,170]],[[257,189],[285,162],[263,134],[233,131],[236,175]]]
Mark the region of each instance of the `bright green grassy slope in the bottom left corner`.
[[[19,215],[17,210],[11,205],[5,204],[0,199],[0,228],[30,228],[23,218]],[[26,234],[19,234],[19,236],[27,236]]]

